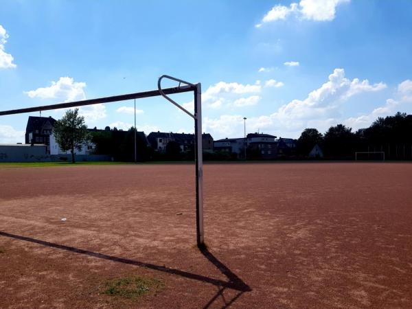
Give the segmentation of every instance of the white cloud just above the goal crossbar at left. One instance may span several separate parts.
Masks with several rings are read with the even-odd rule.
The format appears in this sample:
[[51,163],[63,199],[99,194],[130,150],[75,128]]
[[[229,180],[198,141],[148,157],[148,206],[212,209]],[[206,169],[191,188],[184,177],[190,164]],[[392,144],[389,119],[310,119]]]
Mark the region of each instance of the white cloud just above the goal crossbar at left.
[[49,87],[25,91],[30,98],[57,99],[64,102],[80,101],[86,98],[83,88],[85,82],[74,82],[73,78],[61,77],[57,82],[52,82]]

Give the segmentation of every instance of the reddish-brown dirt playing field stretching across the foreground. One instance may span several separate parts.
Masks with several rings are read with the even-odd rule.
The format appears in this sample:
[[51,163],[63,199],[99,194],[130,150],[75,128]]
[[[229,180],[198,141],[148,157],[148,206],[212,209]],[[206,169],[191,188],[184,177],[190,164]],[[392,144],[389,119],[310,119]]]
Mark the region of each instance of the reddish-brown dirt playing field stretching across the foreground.
[[[0,167],[0,308],[411,308],[411,163]],[[61,219],[67,218],[65,222]],[[139,275],[163,288],[102,294]]]

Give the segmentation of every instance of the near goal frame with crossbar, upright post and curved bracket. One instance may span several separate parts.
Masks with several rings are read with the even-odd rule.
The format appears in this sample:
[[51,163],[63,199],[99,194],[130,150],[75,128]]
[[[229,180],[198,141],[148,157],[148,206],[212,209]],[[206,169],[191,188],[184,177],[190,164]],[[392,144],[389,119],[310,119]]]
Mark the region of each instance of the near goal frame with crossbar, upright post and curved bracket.
[[[161,88],[161,81],[163,78],[179,82],[177,87]],[[190,113],[183,106],[172,100],[168,95],[174,93],[185,93],[192,91],[194,93],[194,113]],[[119,102],[124,100],[150,98],[156,96],[163,96],[166,100],[174,104],[181,111],[189,115],[194,119],[194,149],[195,149],[195,174],[196,174],[196,241],[198,246],[204,244],[204,231],[203,231],[203,153],[202,153],[202,98],[201,98],[201,83],[192,84],[179,78],[163,75],[157,81],[157,90],[144,91],[137,93],[128,93],[124,95],[115,95],[106,98],[97,98],[91,100],[83,100],[76,102],[58,103],[46,106],[34,106],[30,108],[19,108],[10,111],[0,111],[0,116],[14,115],[21,113],[32,113],[41,111],[50,111],[59,108],[72,108],[78,106],[86,106],[101,103]]]

